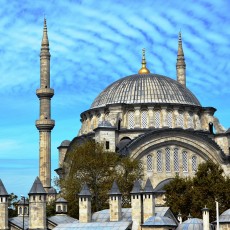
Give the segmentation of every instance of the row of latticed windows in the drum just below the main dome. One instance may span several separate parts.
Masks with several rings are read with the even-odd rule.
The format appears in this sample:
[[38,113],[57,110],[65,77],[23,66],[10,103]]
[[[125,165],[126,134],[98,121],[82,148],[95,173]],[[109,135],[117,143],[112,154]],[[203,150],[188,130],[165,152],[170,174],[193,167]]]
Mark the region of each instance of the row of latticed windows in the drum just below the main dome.
[[[194,128],[194,115],[192,113],[188,113],[187,118],[187,128]],[[155,110],[153,113],[153,122],[155,128],[160,128],[161,125],[161,111]],[[141,119],[140,119],[141,128],[148,128],[149,121],[148,121],[148,111],[142,110],[141,111]],[[185,128],[185,121],[184,121],[184,113],[182,111],[178,112],[177,117],[175,118],[175,123],[177,127]],[[129,111],[127,116],[127,126],[128,129],[135,128],[135,113],[134,111]],[[167,111],[166,112],[166,126],[169,128],[173,127],[173,112]],[[200,119],[197,120],[197,128],[200,128]]]

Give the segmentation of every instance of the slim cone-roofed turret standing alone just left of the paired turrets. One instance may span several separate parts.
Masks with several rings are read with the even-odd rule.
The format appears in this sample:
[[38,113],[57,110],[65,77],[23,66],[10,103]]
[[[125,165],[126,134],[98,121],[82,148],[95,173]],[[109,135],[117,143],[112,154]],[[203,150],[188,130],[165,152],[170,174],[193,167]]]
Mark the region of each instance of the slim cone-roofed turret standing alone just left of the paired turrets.
[[109,210],[110,210],[110,221],[120,221],[122,210],[121,210],[121,192],[117,186],[116,181],[113,182],[112,188],[109,192]]

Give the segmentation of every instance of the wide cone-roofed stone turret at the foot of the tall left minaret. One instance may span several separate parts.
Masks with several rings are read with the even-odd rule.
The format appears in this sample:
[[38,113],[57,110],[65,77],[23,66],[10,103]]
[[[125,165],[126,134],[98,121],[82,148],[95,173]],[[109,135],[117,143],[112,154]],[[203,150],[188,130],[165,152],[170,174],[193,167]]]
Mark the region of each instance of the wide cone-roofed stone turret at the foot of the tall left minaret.
[[29,192],[29,229],[47,229],[46,191],[38,177]]

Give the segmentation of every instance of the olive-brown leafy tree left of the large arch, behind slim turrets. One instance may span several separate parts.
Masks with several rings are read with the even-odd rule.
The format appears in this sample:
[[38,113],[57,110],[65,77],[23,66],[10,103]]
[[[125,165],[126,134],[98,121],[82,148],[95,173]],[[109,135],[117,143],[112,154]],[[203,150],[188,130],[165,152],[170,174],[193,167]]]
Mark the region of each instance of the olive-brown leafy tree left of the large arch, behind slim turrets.
[[105,151],[94,141],[75,144],[68,151],[63,165],[65,177],[58,181],[63,197],[68,201],[68,212],[78,217],[78,196],[84,183],[92,194],[92,211],[108,208],[108,192],[114,180],[122,193],[128,194],[136,179],[142,178],[137,160]]

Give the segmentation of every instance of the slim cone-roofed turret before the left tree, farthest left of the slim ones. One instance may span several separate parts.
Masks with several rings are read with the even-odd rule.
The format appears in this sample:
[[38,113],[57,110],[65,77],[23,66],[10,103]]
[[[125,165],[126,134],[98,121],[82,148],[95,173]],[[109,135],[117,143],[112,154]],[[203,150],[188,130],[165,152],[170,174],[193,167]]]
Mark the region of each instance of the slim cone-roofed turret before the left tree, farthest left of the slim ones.
[[79,222],[88,223],[91,221],[91,193],[87,184],[84,184],[79,195]]

